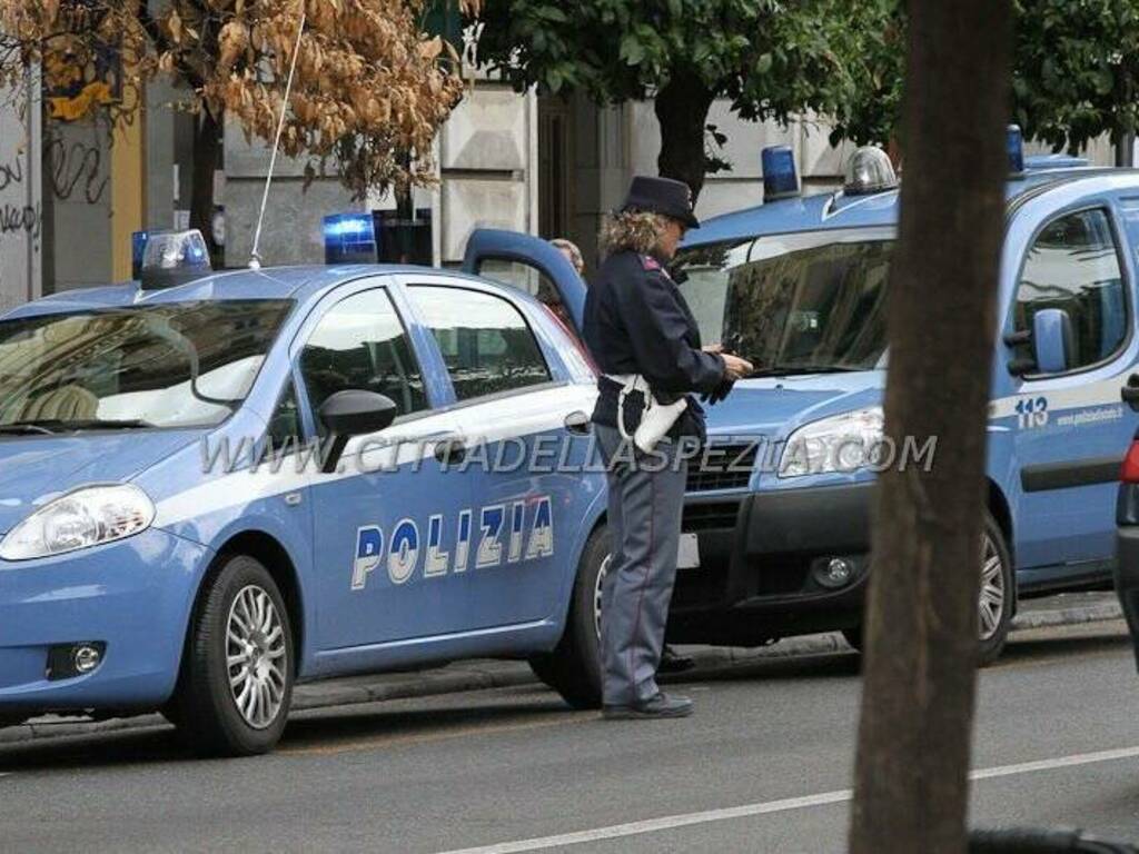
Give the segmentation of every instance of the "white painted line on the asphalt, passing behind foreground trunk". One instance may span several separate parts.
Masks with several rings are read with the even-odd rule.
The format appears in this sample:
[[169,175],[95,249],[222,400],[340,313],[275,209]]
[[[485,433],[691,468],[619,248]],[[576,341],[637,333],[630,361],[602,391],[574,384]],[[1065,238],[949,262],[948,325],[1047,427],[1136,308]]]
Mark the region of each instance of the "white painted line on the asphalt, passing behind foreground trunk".
[[[1059,756],[1054,759],[1040,759],[1038,762],[1022,762],[1015,765],[998,765],[995,767],[978,769],[969,774],[969,779],[992,780],[998,777],[1031,774],[1038,771],[1054,771],[1056,769],[1090,765],[1097,762],[1114,762],[1117,759],[1130,759],[1136,757],[1139,757],[1139,747],[1123,747],[1117,750],[1074,754],[1072,756]],[[743,806],[730,806],[722,810],[706,810],[698,813],[665,815],[659,819],[631,821],[625,824],[611,824],[604,828],[593,828],[592,830],[579,830],[573,834],[543,836],[533,839],[519,839],[510,843],[484,845],[478,848],[461,848],[443,852],[443,854],[519,854],[519,852],[527,851],[544,851],[547,848],[558,848],[567,845],[596,843],[603,839],[620,839],[626,836],[655,834],[662,830],[673,830],[675,828],[685,828],[693,824],[706,824],[714,821],[747,819],[754,815],[768,815],[770,813],[787,812],[789,810],[803,810],[812,806],[842,804],[850,800],[852,796],[853,791],[851,789],[837,789],[835,791],[823,791],[818,795],[808,795],[798,798],[767,800],[759,804],[744,804]]]

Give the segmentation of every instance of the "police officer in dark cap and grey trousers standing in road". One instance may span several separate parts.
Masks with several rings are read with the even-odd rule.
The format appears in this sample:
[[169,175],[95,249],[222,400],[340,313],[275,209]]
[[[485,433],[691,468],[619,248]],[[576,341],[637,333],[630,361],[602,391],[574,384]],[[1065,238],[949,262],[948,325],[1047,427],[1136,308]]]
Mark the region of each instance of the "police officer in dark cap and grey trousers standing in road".
[[[604,375],[593,424],[609,488],[612,560],[601,611],[607,718],[693,711],[691,700],[656,684],[677,575],[690,455],[685,445],[705,438],[704,411],[693,393],[714,403],[752,370],[744,359],[702,348],[691,311],[665,269],[685,231],[698,227],[687,184],[638,175],[603,228],[607,257],[585,298],[585,344]],[[648,394],[659,404],[685,396],[687,405],[646,453],[625,437],[634,435]]]

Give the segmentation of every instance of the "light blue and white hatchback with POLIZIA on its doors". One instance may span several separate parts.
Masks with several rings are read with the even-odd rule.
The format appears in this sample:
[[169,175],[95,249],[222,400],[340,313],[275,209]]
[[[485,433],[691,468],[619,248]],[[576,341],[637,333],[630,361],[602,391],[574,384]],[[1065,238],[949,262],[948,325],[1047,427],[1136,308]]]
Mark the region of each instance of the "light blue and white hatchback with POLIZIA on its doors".
[[140,247],[141,284],[0,319],[0,724],[162,709],[254,754],[297,680],[469,656],[596,705],[604,475],[562,321],[459,272]]

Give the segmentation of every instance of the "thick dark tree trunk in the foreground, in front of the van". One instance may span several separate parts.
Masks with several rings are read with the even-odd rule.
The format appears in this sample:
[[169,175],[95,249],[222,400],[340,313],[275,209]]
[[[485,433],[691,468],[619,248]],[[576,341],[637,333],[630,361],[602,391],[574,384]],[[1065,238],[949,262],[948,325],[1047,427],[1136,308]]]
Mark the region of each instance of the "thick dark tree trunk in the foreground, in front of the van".
[[[850,849],[966,849],[985,419],[1007,173],[1008,0],[910,3],[886,435]],[[888,445],[887,445],[888,446]]]

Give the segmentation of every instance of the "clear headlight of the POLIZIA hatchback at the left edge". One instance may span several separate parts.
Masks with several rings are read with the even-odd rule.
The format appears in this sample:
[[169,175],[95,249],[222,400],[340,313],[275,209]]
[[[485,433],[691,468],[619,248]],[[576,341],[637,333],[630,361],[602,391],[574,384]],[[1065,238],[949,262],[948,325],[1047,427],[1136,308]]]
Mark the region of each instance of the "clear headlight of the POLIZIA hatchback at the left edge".
[[0,559],[31,560],[146,531],[154,502],[138,486],[88,486],[44,504],[0,541]]

